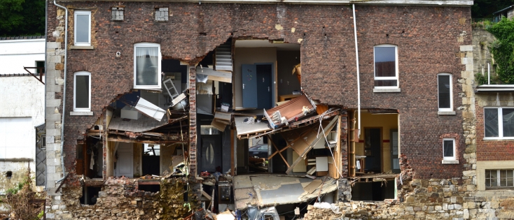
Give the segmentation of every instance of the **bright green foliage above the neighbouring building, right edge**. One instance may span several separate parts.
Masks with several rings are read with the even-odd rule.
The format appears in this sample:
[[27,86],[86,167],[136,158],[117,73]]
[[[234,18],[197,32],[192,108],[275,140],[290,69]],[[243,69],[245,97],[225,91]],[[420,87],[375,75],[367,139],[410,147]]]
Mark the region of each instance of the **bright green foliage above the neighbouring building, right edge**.
[[491,52],[497,64],[499,80],[514,84],[514,20],[503,17],[487,31],[496,37],[496,41],[491,44]]

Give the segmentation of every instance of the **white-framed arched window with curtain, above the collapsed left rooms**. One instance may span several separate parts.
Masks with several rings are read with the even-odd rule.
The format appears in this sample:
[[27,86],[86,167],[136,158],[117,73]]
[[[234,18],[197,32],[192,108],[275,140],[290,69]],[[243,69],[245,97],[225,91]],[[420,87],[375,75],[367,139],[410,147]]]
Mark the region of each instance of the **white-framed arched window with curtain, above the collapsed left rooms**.
[[134,89],[160,89],[160,45],[134,44]]

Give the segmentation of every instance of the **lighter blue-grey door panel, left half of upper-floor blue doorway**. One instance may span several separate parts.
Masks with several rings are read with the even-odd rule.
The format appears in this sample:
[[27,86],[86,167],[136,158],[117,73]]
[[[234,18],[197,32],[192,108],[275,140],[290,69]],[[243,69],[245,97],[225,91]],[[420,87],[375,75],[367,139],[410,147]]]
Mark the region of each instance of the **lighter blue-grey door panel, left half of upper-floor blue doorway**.
[[257,108],[257,66],[242,64],[243,108]]

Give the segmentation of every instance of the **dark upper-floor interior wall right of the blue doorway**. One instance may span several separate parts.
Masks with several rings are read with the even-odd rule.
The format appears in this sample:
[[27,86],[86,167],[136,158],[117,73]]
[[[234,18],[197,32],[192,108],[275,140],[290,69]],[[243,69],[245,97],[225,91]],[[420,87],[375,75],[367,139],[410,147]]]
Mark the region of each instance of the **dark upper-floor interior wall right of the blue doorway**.
[[[300,64],[300,50],[277,51],[277,84],[278,95],[293,94],[294,90],[300,90],[298,77],[292,74],[294,66]],[[289,82],[289,84],[287,83]]]

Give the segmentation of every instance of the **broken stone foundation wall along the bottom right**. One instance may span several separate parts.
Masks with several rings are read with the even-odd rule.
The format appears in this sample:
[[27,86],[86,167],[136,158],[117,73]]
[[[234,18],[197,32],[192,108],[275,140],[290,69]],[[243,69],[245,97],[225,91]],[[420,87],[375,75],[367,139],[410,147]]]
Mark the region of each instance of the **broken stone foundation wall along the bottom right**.
[[[309,219],[513,219],[512,193],[475,191],[465,178],[415,179],[401,185],[405,197],[337,204],[340,213],[309,205]],[[341,185],[340,185],[341,186]]]

